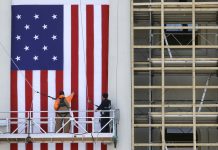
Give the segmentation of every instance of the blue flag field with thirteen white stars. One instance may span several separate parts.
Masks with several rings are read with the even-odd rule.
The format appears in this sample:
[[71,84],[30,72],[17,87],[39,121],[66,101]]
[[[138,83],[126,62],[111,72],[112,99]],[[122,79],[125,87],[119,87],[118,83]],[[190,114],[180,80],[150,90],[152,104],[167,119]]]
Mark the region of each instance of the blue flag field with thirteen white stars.
[[12,58],[19,69],[63,69],[63,10],[61,5],[12,7]]

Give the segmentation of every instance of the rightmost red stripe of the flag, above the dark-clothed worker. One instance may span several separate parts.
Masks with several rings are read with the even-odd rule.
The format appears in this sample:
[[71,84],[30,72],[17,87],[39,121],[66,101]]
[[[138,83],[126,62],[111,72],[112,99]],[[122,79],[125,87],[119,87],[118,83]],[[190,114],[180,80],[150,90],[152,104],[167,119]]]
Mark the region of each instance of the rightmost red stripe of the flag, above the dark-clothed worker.
[[[108,32],[109,6],[102,5],[102,93],[108,92]],[[101,144],[101,150],[107,150],[106,144]]]

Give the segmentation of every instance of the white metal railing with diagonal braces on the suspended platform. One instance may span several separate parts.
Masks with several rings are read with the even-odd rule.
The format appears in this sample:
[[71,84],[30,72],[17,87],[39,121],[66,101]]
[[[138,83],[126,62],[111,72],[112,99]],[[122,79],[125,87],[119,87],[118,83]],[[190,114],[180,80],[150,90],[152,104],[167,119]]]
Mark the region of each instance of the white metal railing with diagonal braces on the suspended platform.
[[[63,111],[61,111],[63,113]],[[67,111],[69,113],[69,111]],[[109,117],[101,117],[99,113],[109,112]],[[104,111],[70,111],[71,116],[56,117],[57,112],[48,111],[9,111],[0,112],[0,137],[1,135],[19,135],[19,134],[60,134],[64,127],[70,123],[71,130],[69,134],[102,134],[102,130],[109,126],[109,131],[113,137],[116,137],[117,124],[119,122],[119,110]],[[59,112],[60,113],[60,112]],[[74,116],[72,116],[72,114]],[[91,114],[91,115],[90,115]],[[55,131],[55,122],[62,119],[62,127]],[[104,126],[100,125],[99,120],[106,119]]]

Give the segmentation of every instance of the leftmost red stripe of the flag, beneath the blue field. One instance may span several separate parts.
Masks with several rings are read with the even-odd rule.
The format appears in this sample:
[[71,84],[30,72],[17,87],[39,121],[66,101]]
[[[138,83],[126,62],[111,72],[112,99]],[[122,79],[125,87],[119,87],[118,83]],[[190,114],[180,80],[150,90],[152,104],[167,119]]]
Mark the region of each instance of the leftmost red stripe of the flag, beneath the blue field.
[[[11,111],[17,111],[17,71],[11,71]],[[11,113],[11,117],[17,118],[17,113]],[[14,120],[15,121],[15,120]],[[11,125],[11,132],[17,128],[17,125]],[[17,150],[18,144],[10,144],[10,150]]]

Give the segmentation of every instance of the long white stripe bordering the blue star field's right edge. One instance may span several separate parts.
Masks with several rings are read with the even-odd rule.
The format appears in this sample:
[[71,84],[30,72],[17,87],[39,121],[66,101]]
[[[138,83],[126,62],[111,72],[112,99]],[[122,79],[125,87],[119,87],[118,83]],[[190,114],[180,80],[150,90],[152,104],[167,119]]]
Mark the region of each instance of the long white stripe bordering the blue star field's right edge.
[[[71,5],[64,5],[64,92],[71,93]],[[67,39],[67,40],[66,40]],[[63,144],[64,150],[70,150],[70,143]]]

